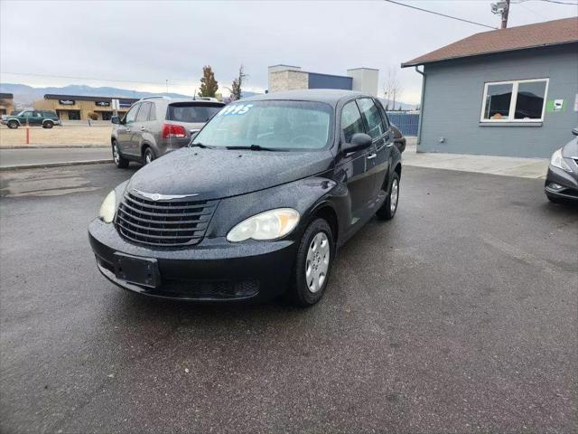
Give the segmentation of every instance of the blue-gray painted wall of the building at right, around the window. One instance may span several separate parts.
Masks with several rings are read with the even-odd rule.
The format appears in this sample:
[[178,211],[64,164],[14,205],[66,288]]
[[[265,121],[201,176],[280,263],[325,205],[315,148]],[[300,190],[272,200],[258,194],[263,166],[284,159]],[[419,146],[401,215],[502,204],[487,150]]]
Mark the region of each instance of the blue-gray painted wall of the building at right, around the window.
[[[578,43],[424,66],[422,140],[418,152],[549,157],[572,139],[578,93]],[[545,112],[540,127],[480,126],[484,83],[549,78],[546,100],[564,99],[564,112]],[[440,143],[440,137],[444,142]]]

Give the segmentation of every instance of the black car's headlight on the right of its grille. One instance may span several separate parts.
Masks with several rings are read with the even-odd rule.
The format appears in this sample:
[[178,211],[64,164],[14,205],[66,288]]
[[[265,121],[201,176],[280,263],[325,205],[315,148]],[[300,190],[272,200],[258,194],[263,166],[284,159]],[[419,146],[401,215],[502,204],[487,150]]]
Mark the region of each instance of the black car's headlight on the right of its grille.
[[228,231],[227,241],[276,240],[293,231],[298,222],[299,212],[293,208],[277,208],[261,212]]

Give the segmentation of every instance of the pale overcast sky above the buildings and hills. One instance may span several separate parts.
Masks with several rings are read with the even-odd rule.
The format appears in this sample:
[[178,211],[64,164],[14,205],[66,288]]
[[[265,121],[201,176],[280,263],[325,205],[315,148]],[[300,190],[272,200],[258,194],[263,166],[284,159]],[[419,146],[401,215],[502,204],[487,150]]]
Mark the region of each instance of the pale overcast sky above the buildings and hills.
[[[499,26],[489,0],[398,1]],[[575,5],[527,0],[512,5],[509,26],[576,14]],[[168,80],[170,91],[184,94],[198,86],[205,64],[212,66],[219,86],[229,87],[243,63],[246,90],[265,90],[267,66],[276,63],[338,75],[348,68],[377,68],[382,83],[391,65],[398,68],[402,61],[484,31],[379,0],[0,0],[0,20],[2,82],[160,91]],[[400,69],[399,76],[401,99],[419,102],[421,76],[413,69]]]

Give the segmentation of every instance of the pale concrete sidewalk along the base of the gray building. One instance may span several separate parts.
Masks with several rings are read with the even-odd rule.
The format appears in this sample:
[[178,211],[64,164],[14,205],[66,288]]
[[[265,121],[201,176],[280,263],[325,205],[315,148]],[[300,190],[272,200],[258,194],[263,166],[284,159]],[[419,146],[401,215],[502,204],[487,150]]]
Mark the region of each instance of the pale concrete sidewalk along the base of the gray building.
[[547,158],[416,153],[415,141],[415,137],[407,137],[403,165],[522,178],[545,178],[548,170]]

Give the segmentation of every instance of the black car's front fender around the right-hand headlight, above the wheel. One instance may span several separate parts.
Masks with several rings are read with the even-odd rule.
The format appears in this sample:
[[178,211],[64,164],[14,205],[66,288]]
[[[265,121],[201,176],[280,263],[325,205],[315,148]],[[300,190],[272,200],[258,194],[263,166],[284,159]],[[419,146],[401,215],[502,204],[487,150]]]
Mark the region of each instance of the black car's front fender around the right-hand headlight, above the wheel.
[[258,192],[228,197],[220,201],[205,236],[224,237],[233,226],[259,212],[293,208],[301,214],[298,231],[289,235],[296,239],[301,236],[312,212],[320,206],[333,206],[332,196],[337,185],[331,179],[312,176]]

